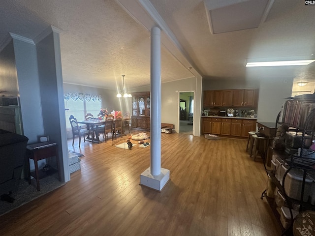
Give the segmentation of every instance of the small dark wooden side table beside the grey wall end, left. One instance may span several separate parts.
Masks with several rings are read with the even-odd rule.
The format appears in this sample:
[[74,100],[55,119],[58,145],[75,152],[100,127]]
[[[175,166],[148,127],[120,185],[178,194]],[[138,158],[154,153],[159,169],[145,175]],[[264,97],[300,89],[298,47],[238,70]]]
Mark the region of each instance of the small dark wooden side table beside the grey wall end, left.
[[[29,175],[29,183],[31,184],[31,176],[36,179],[36,185],[37,185],[37,191],[40,191],[39,188],[39,179],[43,177],[47,177],[49,175],[54,174],[57,170],[51,168],[47,170],[46,172],[38,171],[38,164],[37,161],[43,160],[49,157],[56,157],[57,161],[57,168],[58,168],[58,177],[59,181],[61,181],[61,175],[60,175],[60,165],[58,160],[58,148],[57,144],[54,142],[43,142],[38,144],[32,144],[27,146],[27,156],[28,158],[32,159],[34,161],[35,165],[35,171],[31,172]],[[29,163],[29,170],[30,170],[30,162]]]

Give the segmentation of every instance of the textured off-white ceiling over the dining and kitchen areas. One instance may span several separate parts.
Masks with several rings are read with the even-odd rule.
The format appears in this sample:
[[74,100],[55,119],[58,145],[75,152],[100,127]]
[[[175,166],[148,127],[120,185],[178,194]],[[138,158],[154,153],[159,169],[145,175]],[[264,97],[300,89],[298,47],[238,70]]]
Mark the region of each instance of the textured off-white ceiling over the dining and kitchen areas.
[[[0,45],[8,32],[34,39],[53,25],[62,30],[64,82],[115,89],[121,86],[124,74],[127,88],[149,85],[150,32],[120,1],[1,0]],[[134,8],[141,8],[140,1],[130,1],[137,3]],[[203,0],[141,1],[152,3],[183,54],[206,79],[315,78],[314,63],[281,68],[244,66],[246,59],[315,53],[315,7],[304,1],[275,0],[258,28],[218,34],[209,30]],[[162,82],[193,77],[164,47],[161,59]]]

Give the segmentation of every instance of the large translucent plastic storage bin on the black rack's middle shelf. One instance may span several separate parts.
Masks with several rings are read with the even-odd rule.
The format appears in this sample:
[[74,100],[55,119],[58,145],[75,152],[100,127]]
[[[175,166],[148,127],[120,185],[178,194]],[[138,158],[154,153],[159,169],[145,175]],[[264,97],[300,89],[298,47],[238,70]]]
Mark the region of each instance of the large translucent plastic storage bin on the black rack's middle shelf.
[[[285,166],[282,166],[282,169],[283,169],[282,174],[284,175],[287,168]],[[300,169],[291,169],[287,173],[285,177],[285,181],[284,181],[284,191],[285,191],[285,194],[289,198],[301,200],[303,173],[304,172]],[[313,180],[307,175],[305,178],[305,185],[304,185],[304,195],[303,195],[304,202],[308,201],[312,182]]]

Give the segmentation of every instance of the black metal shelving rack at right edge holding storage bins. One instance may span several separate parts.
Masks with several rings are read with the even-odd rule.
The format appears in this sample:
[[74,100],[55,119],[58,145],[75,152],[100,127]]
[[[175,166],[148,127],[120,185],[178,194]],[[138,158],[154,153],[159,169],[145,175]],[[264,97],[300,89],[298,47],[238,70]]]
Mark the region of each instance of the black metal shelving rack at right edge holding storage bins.
[[[305,106],[308,106],[308,109],[304,109],[302,107],[298,108],[298,104],[307,104]],[[289,104],[295,104],[295,105],[289,105]],[[310,105],[312,104],[312,105]],[[312,149],[309,149],[311,144],[306,144],[306,136],[311,137],[311,141],[315,140],[315,101],[301,101],[301,100],[288,100],[282,109],[282,111],[279,113],[277,120],[276,120],[276,129],[277,124],[278,125],[284,125],[286,127],[289,127],[289,130],[295,133],[297,135],[298,133],[302,133],[301,136],[301,145],[298,148],[298,151],[291,154],[287,153],[283,150],[276,150],[273,149],[273,155],[277,156],[278,158],[281,158],[282,162],[286,166],[286,170],[284,171],[282,179],[279,179],[276,177],[275,170],[268,170],[266,167],[266,173],[269,177],[269,181],[271,181],[273,184],[275,184],[276,189],[281,193],[281,195],[284,196],[284,199],[286,201],[286,204],[288,208],[290,209],[290,216],[291,219],[293,219],[293,213],[292,208],[293,205],[299,205],[299,212],[305,211],[305,210],[315,210],[315,201],[314,199],[310,201],[311,197],[309,195],[313,194],[315,195],[315,189],[310,189],[310,193],[306,192],[308,196],[304,196],[306,184],[310,181],[310,176],[315,176],[315,152]],[[290,107],[291,106],[291,107]],[[302,112],[303,111],[303,112]],[[283,168],[280,166],[280,168]],[[299,186],[296,188],[298,192],[298,196],[300,198],[296,197],[289,197],[288,195],[292,196],[292,193],[288,192],[285,186],[287,186],[285,181],[292,181],[288,179],[288,173],[290,171],[299,171],[300,173],[303,173],[301,176],[302,179],[299,182]],[[282,181],[281,181],[282,180]],[[290,183],[290,182],[289,182]],[[314,184],[314,180],[311,184]],[[302,186],[301,186],[302,185]],[[297,185],[296,185],[297,186]],[[300,187],[301,186],[301,187]],[[315,185],[313,185],[314,188]],[[313,193],[314,192],[314,193]],[[270,205],[272,211],[274,212],[277,220],[280,223],[280,226],[282,227],[283,234],[282,235],[293,235],[293,220],[291,220],[290,225],[287,229],[285,229],[282,225],[282,222],[280,220],[280,213],[277,210],[276,201],[267,196],[267,189],[263,191],[261,195],[261,199],[263,197],[266,198],[268,204]],[[313,197],[314,198],[314,197]]]

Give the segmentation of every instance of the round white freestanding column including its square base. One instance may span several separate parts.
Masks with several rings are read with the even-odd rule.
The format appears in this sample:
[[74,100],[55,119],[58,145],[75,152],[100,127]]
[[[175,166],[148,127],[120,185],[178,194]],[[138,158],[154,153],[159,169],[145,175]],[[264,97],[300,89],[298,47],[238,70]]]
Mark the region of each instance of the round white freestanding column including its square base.
[[161,30],[151,29],[150,167],[140,175],[140,185],[161,191],[169,170],[161,168]]

